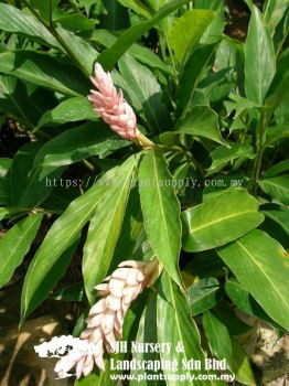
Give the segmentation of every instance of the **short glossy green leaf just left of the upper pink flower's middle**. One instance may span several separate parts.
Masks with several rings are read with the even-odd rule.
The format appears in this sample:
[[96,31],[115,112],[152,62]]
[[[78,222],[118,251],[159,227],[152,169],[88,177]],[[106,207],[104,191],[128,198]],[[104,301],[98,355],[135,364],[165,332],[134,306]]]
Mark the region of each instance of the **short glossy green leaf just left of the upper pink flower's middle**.
[[98,116],[93,110],[92,104],[85,97],[74,97],[64,100],[53,110],[46,111],[38,128],[49,125],[63,125],[66,122],[76,122],[79,120],[97,120]]

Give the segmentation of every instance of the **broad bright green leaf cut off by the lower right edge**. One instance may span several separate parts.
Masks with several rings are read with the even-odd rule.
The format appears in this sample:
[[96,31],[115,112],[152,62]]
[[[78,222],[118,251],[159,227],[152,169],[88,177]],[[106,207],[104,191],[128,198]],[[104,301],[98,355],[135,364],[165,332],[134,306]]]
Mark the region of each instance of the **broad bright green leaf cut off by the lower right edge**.
[[266,233],[255,229],[217,253],[268,315],[288,330],[289,267],[282,247]]

